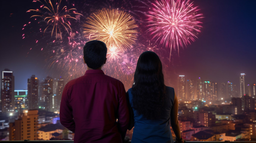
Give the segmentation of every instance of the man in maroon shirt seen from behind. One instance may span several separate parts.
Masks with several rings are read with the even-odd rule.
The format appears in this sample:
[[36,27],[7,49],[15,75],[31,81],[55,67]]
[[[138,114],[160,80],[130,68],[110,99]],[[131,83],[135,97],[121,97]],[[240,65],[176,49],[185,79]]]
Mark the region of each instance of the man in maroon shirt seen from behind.
[[106,44],[89,41],[83,53],[87,70],[64,87],[61,124],[75,133],[74,143],[122,142],[129,123],[126,92],[121,81],[101,70],[107,60]]

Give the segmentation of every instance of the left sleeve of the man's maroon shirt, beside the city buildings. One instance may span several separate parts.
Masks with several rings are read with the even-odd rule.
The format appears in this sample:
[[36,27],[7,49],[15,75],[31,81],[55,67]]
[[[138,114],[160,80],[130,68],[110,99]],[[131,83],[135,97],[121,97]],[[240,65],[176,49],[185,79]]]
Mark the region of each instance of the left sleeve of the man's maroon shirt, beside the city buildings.
[[60,122],[61,124],[72,132],[75,132],[75,121],[73,119],[72,108],[68,102],[68,86],[64,87],[61,96],[60,106]]

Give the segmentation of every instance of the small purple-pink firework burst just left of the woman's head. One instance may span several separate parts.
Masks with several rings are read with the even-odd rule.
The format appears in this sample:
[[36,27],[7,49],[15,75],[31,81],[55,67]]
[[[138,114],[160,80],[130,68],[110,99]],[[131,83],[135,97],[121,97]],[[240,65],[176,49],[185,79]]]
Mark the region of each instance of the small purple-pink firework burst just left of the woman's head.
[[122,63],[120,63],[121,70],[123,74],[131,75],[135,72],[136,69],[136,62],[133,61],[133,59],[124,59]]

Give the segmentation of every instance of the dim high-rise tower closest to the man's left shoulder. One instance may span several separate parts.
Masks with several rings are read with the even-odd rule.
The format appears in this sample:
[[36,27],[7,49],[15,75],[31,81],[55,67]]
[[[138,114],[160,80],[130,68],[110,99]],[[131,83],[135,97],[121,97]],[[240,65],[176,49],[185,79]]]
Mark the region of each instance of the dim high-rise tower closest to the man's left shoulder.
[[58,79],[57,82],[57,89],[56,89],[56,99],[55,99],[55,105],[56,105],[56,109],[58,111],[60,111],[60,105],[61,105],[61,95],[64,89],[64,80],[60,77],[60,79]]

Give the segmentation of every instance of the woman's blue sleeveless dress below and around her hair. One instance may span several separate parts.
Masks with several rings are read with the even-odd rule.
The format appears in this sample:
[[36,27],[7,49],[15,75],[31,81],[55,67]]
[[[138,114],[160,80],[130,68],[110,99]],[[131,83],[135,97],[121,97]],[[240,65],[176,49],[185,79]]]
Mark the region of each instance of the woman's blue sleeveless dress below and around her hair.
[[130,106],[134,114],[134,128],[132,143],[173,143],[170,130],[170,113],[174,102],[174,89],[166,87],[167,106],[164,107],[164,116],[159,120],[148,120],[143,115],[139,115],[133,108],[132,88],[128,90]]

